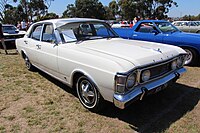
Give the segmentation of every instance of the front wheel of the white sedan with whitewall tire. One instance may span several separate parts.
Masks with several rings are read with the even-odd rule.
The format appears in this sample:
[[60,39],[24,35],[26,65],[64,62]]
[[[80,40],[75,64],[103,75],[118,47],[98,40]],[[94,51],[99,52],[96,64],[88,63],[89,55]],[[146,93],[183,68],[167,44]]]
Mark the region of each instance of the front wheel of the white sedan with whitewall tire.
[[86,76],[81,76],[76,83],[76,92],[81,104],[92,112],[99,112],[104,106],[104,99],[95,84]]

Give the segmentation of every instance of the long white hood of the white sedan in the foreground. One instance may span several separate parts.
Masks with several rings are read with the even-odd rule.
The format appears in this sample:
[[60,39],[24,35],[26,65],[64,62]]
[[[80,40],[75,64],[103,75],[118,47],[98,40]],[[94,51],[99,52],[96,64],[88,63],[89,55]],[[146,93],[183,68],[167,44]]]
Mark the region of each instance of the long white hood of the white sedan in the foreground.
[[125,40],[121,38],[84,41],[79,47],[115,56],[131,62],[134,66],[141,66],[168,60],[184,50],[176,46],[164,45],[153,42]]

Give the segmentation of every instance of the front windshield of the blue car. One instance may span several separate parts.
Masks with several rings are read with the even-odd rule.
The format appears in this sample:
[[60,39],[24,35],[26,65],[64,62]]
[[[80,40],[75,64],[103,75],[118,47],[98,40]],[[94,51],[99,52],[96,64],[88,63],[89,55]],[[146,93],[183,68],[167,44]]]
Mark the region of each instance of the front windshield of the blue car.
[[157,27],[164,33],[179,31],[175,26],[169,22],[156,22]]

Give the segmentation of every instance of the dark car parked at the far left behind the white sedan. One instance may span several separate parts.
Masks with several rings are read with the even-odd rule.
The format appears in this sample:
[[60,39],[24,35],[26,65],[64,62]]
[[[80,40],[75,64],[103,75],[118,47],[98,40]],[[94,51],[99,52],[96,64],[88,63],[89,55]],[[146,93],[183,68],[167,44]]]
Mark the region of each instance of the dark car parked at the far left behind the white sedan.
[[25,35],[25,31],[18,30],[14,25],[3,24],[2,25],[4,41],[8,49],[16,49],[15,39],[22,38]]

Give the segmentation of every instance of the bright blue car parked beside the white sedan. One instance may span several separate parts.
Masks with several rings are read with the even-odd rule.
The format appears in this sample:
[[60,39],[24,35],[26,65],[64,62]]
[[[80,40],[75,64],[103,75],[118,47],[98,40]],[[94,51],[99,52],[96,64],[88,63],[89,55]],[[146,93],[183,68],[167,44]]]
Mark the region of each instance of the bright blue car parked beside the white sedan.
[[164,20],[142,20],[132,28],[114,28],[122,38],[175,45],[187,53],[186,65],[200,64],[200,34],[185,33]]

